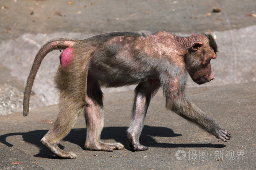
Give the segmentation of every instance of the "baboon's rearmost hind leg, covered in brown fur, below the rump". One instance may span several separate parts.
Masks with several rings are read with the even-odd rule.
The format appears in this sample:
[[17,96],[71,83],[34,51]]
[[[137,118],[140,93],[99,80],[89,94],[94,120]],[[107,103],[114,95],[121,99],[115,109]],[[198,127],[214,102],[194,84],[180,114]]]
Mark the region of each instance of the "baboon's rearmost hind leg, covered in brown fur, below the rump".
[[59,114],[41,142],[57,157],[73,159],[76,154],[61,150],[58,143],[70,132],[79,114],[84,111],[86,74],[68,72],[60,67],[55,81],[60,90]]

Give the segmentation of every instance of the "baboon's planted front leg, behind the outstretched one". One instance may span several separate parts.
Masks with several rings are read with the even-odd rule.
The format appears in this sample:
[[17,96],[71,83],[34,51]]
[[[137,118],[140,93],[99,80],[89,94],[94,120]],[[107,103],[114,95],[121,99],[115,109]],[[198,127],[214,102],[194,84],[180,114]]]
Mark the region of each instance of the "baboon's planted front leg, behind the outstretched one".
[[150,99],[155,92],[157,92],[159,86],[158,80],[147,79],[140,83],[135,89],[132,120],[128,128],[128,143],[134,151],[148,149],[148,147],[140,145],[139,137],[143,129],[143,122],[146,117]]

